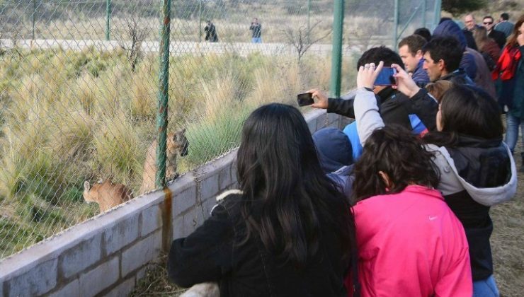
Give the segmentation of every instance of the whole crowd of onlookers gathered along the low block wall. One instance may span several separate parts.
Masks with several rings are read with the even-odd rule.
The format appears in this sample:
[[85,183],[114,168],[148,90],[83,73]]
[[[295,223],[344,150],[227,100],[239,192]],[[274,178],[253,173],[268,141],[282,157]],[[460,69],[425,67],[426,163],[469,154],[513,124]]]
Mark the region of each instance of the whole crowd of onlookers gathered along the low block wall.
[[[343,130],[311,135],[290,105],[251,113],[239,189],[173,241],[169,278],[220,296],[499,296],[489,210],[516,194],[524,15],[465,25],[364,52],[341,98],[309,90],[355,119]],[[377,86],[385,66],[394,83]]]

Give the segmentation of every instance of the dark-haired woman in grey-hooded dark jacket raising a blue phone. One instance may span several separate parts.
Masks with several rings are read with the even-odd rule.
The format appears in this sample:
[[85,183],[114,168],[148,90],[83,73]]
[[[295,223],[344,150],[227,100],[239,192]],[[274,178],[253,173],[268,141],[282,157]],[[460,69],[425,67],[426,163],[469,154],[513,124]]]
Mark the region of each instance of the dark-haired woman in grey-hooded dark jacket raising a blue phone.
[[[358,86],[372,88],[382,65],[375,69],[374,64],[368,64],[360,69]],[[392,66],[398,71],[399,91],[410,98],[425,92],[401,67]],[[375,129],[384,127],[375,96],[363,88],[355,98],[355,117],[363,144]],[[440,175],[437,189],[466,231],[473,295],[498,296],[489,243],[493,231],[489,209],[516,194],[517,174],[511,151],[502,141],[496,100],[479,88],[453,86],[443,95],[436,124],[438,131],[423,137],[424,147],[435,154],[433,162]]]

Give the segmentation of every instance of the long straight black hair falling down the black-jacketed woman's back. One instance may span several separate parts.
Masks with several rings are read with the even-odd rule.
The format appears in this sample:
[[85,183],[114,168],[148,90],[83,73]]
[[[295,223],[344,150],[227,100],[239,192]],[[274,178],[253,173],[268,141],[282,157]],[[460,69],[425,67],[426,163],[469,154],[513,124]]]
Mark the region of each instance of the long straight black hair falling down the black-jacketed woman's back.
[[259,236],[280,260],[303,267],[319,250],[321,226],[328,226],[324,230],[336,231],[349,260],[355,244],[352,210],[321,169],[302,114],[290,105],[263,105],[249,115],[241,137],[237,166],[247,226],[242,243]]

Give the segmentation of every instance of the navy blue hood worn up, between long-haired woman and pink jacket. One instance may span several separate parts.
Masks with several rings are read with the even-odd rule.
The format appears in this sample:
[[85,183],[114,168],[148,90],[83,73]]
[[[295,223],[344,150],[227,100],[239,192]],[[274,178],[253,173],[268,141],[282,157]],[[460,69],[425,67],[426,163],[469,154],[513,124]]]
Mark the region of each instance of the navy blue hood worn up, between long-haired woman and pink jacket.
[[320,166],[324,173],[332,173],[353,163],[353,149],[348,136],[336,128],[324,128],[314,132]]

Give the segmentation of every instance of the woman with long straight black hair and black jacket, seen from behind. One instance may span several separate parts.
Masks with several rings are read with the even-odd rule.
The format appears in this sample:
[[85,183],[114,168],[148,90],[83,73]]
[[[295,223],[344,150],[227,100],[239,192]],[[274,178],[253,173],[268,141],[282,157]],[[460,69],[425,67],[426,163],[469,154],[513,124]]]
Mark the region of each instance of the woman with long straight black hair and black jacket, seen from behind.
[[217,281],[220,296],[346,296],[353,214],[321,170],[300,112],[273,103],[251,113],[237,166],[240,189],[173,241],[169,278]]

